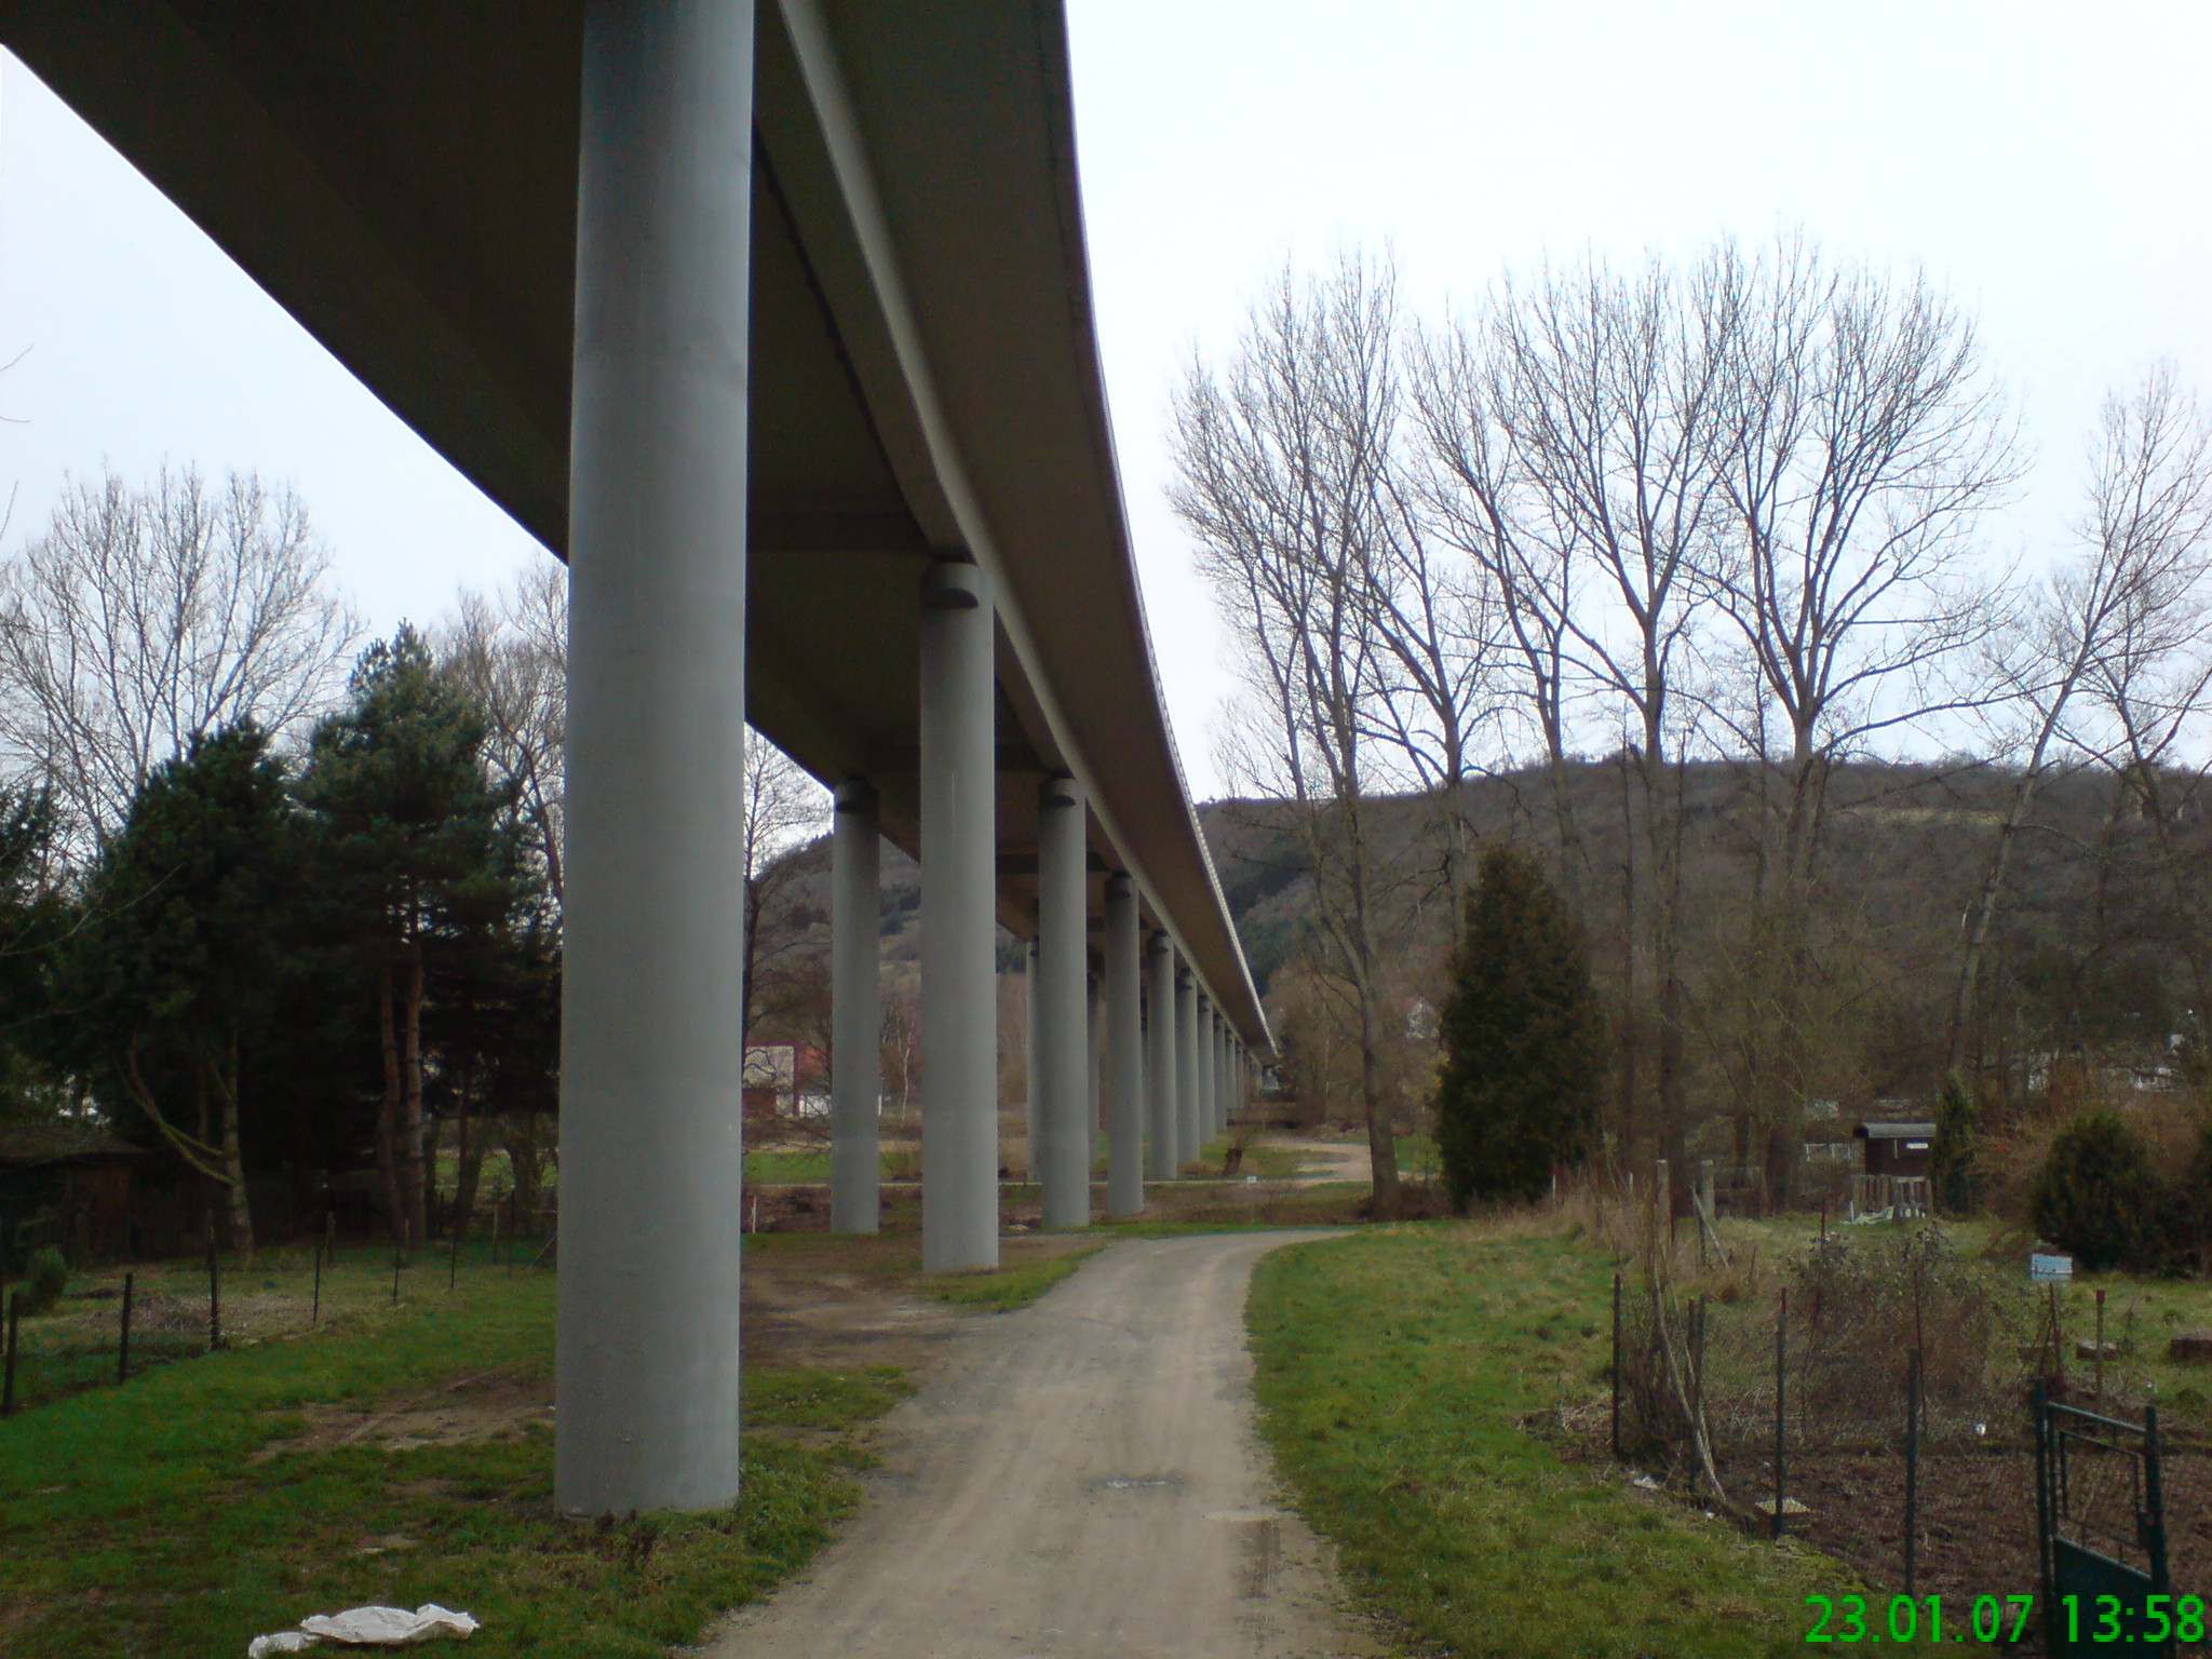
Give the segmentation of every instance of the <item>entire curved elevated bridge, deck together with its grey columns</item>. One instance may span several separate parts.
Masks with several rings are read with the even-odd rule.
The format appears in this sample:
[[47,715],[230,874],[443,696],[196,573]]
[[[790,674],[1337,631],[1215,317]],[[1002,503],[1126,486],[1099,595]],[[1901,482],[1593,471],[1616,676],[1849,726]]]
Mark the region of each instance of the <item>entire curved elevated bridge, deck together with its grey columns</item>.
[[925,1265],[998,1261],[998,922],[1046,1217],[1093,1212],[1093,980],[1110,1208],[1148,1133],[1197,1157],[1267,1031],[1150,661],[1057,4],[0,0],[0,40],[571,562],[564,1506],[737,1491],[745,719],[838,785],[841,1225],[878,832],[922,858]]

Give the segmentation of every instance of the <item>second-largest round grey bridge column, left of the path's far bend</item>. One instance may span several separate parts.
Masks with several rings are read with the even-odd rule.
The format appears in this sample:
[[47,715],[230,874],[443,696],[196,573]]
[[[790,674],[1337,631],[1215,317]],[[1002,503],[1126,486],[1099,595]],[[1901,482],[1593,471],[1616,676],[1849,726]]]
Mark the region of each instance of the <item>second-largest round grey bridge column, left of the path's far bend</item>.
[[991,580],[922,577],[922,1272],[998,1267]]

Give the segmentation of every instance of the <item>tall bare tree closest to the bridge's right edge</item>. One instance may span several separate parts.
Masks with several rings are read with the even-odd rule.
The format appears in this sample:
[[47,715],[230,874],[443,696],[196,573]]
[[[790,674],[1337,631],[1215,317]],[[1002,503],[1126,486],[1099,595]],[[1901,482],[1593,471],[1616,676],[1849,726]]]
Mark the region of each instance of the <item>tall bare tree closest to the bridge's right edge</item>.
[[[1394,531],[1398,310],[1389,272],[1347,257],[1318,283],[1285,268],[1223,372],[1192,363],[1175,403],[1175,511],[1241,644],[1250,703],[1232,768],[1290,803],[1314,883],[1310,964],[1360,1048],[1378,1214],[1398,1214],[1383,1064],[1385,887],[1369,796],[1394,664],[1374,588]],[[1402,664],[1398,664],[1402,668]]]

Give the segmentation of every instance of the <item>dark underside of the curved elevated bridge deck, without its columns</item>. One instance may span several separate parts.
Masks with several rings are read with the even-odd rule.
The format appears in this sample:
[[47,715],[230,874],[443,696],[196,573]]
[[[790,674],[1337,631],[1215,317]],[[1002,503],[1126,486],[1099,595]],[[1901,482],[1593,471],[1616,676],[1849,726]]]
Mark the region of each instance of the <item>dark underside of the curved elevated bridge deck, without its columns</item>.
[[[0,40],[566,557],[580,0],[0,0]],[[995,566],[1004,920],[1026,781],[1075,770],[1093,916],[1133,867],[1261,1042],[1126,546],[1057,7],[761,4],[754,137],[752,723],[916,852],[916,582]]]

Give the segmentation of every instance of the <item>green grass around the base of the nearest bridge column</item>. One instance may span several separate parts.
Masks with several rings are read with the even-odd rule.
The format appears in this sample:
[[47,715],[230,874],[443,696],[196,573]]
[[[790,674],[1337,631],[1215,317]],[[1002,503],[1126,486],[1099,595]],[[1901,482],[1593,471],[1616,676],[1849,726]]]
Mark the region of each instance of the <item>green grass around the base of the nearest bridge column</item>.
[[867,1462],[852,1431],[905,1391],[891,1369],[750,1374],[743,1498],[602,1524],[553,1513],[526,1413],[411,1449],[312,1433],[345,1405],[542,1402],[551,1365],[551,1276],[465,1274],[0,1422],[0,1650],[237,1655],[307,1613],[442,1601],[484,1621],[473,1659],[657,1657],[827,1540]]

